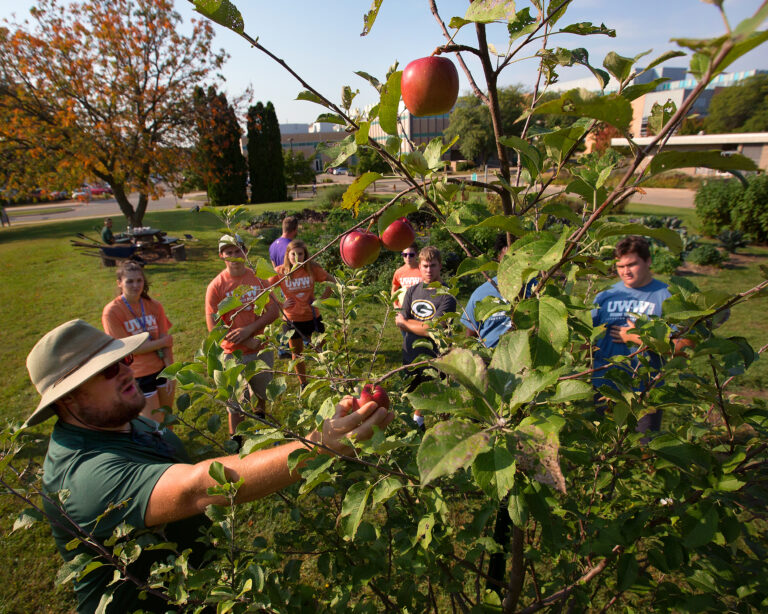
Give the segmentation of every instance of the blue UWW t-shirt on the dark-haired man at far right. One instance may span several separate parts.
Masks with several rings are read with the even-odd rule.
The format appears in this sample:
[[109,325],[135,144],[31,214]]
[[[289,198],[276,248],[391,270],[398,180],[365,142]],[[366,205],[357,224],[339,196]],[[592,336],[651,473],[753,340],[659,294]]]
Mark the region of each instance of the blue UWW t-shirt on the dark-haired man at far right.
[[[612,356],[627,356],[637,347],[626,343],[618,343],[611,337],[609,326],[627,326],[627,320],[636,320],[636,316],[647,317],[660,316],[661,306],[671,296],[667,284],[652,280],[642,288],[627,288],[623,281],[616,282],[607,290],[603,290],[595,297],[597,307],[592,310],[592,326],[604,324],[605,334],[597,341],[594,368],[602,367]],[[658,354],[649,354],[651,366],[661,368],[661,357]],[[637,366],[637,358],[633,358],[631,368]],[[608,371],[598,371],[592,378],[592,385],[599,388],[604,384],[612,383],[601,376]]]

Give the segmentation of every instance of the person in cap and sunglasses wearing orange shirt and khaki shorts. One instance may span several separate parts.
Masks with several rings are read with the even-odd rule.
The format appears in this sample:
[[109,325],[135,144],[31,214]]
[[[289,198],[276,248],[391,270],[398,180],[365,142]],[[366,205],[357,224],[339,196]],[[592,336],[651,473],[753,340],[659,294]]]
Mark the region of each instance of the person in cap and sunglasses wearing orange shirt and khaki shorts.
[[[247,250],[240,235],[224,235],[219,240],[219,257],[224,260],[224,270],[208,284],[205,292],[205,323],[208,330],[223,324],[227,332],[221,341],[221,347],[228,355],[240,352],[239,361],[243,364],[261,361],[269,367],[256,373],[248,380],[248,392],[257,397],[258,409],[265,410],[267,385],[272,380],[272,366],[275,357],[256,336],[264,332],[264,327],[274,322],[280,315],[277,301],[269,296],[263,309],[256,310],[254,305],[269,284],[246,264]],[[242,306],[229,312],[219,313],[222,301],[234,293],[240,294]],[[229,433],[234,435],[237,425],[243,421],[243,415],[228,407]]]

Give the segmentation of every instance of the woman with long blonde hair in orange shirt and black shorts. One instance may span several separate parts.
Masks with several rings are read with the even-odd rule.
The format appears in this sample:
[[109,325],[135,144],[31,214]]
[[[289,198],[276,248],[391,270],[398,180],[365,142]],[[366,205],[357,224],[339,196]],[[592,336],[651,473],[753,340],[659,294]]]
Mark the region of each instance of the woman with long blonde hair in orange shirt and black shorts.
[[[291,356],[295,360],[304,351],[304,342],[309,342],[313,333],[325,331],[322,318],[312,303],[315,300],[315,282],[336,281],[330,273],[314,262],[307,263],[309,251],[304,241],[294,239],[285,248],[285,259],[278,266],[277,275],[269,278],[269,283],[274,284],[278,279],[287,275],[280,282],[280,289],[285,296],[283,303],[283,316],[285,332],[293,331],[293,336],[288,340],[291,348]],[[331,289],[326,288],[320,297],[326,299],[330,296]],[[306,384],[306,368],[303,362],[296,363],[296,373],[303,387]]]

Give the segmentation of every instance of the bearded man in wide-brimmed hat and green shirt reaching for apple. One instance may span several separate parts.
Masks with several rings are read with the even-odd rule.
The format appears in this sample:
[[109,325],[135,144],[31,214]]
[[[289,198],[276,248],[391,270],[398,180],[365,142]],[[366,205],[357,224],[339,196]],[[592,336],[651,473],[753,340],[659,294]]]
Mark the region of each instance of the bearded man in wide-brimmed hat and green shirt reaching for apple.
[[[327,453],[348,453],[345,438],[366,439],[374,426],[385,427],[392,414],[375,403],[352,410],[352,399],[336,406],[322,433],[299,441],[259,450],[248,456],[225,456],[193,464],[181,440],[156,423],[139,416],[144,395],[131,369],[131,352],[145,334],[114,339],[82,320],[72,320],[46,334],[27,357],[27,369],[41,400],[25,426],[56,415],[48,453],[43,465],[44,501],[59,552],[73,559],[89,547],[74,550],[68,543],[76,535],[72,523],[99,542],[127,523],[136,529],[162,526],[158,541],[174,542],[176,550],[193,550],[195,565],[204,548],[196,543],[199,528],[208,523],[203,511],[210,504],[226,505],[222,497],[208,494],[215,485],[209,476],[216,460],[227,477],[244,480],[238,502],[251,501],[275,492],[298,479],[288,470],[294,450],[319,443]],[[66,493],[61,503],[54,493]],[[59,505],[61,509],[59,509]],[[93,550],[90,550],[94,554]],[[143,582],[153,562],[164,560],[168,550],[144,548],[129,567],[133,578]],[[165,611],[157,591],[139,588],[130,580],[111,584],[109,564],[92,570],[75,583],[79,612],[94,612],[106,591],[114,590],[107,612]],[[147,590],[144,600],[141,590]]]

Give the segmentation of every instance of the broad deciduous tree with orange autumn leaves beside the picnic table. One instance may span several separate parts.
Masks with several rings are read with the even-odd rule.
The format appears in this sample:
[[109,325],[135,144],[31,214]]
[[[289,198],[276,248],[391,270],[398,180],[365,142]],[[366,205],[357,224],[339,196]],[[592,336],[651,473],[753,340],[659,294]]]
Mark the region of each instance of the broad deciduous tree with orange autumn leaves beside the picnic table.
[[178,171],[193,142],[194,87],[216,81],[226,54],[209,23],[182,33],[171,0],[38,0],[30,16],[0,28],[4,179],[97,178],[141,225],[161,189],[150,176]]

